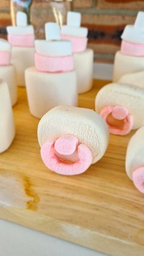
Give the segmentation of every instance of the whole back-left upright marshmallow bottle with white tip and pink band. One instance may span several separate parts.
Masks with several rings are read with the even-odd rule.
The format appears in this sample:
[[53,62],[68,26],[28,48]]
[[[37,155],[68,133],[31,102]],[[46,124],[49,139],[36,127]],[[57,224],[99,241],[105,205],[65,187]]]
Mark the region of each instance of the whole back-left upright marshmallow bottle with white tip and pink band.
[[24,71],[34,66],[34,27],[27,25],[27,15],[16,13],[16,25],[8,26],[8,40],[12,45],[12,64],[16,68],[18,86],[25,86]]

